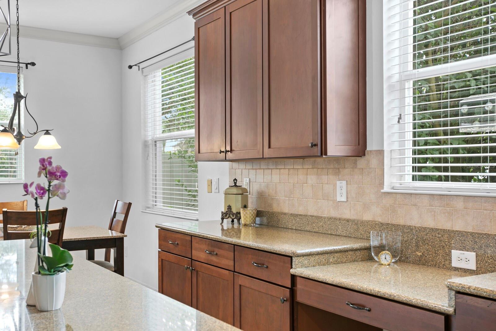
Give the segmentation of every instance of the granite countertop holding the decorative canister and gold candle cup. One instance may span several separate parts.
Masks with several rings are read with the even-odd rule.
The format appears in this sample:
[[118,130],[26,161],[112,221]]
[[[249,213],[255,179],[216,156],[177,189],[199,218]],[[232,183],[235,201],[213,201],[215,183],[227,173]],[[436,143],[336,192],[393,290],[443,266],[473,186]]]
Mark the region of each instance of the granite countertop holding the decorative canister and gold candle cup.
[[[370,249],[366,239],[293,230],[268,225],[241,226],[225,220],[156,224],[159,229],[288,256]],[[64,236],[65,237],[65,236]]]

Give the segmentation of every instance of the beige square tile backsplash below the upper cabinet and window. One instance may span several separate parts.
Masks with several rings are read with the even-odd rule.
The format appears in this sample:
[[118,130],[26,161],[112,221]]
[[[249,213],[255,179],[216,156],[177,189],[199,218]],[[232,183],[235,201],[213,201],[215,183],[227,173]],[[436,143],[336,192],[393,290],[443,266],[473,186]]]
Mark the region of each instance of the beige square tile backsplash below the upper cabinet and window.
[[[250,178],[250,207],[287,213],[496,233],[496,198],[382,193],[382,150],[363,158],[236,161],[229,180]],[[336,181],[347,181],[347,202]]]

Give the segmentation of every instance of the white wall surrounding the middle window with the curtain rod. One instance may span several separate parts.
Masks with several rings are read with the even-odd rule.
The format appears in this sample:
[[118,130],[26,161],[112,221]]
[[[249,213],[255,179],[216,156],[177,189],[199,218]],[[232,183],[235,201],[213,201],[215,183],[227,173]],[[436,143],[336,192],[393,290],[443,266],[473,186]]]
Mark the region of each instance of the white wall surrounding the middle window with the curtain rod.
[[[174,47],[194,35],[194,21],[188,15],[171,22],[122,51],[123,95],[123,196],[133,203],[126,226],[127,257],[125,275],[157,289],[158,234],[156,223],[181,222],[183,219],[144,213],[144,123],[142,120],[142,74],[127,65]],[[155,60],[159,61],[162,58]],[[147,63],[152,64],[154,61]],[[206,193],[206,179],[220,177],[220,193]],[[198,165],[199,218],[219,218],[223,206],[222,191],[228,185],[226,162],[200,162]]]

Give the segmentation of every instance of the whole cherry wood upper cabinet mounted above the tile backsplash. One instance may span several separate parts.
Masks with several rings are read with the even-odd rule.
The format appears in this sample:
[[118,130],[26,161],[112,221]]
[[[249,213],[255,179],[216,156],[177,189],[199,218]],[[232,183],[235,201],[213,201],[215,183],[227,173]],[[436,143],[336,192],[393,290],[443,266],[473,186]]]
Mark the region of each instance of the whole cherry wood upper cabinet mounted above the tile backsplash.
[[363,156],[366,0],[209,0],[196,19],[196,160]]

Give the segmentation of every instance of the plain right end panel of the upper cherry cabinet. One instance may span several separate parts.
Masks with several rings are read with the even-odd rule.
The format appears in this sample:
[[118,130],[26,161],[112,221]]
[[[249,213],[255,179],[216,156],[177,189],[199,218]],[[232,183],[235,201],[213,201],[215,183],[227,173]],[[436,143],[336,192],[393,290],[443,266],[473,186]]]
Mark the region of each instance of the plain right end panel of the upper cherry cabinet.
[[[322,39],[323,144],[331,156],[364,156],[367,148],[366,1],[325,0]],[[333,47],[339,45],[336,52]]]

